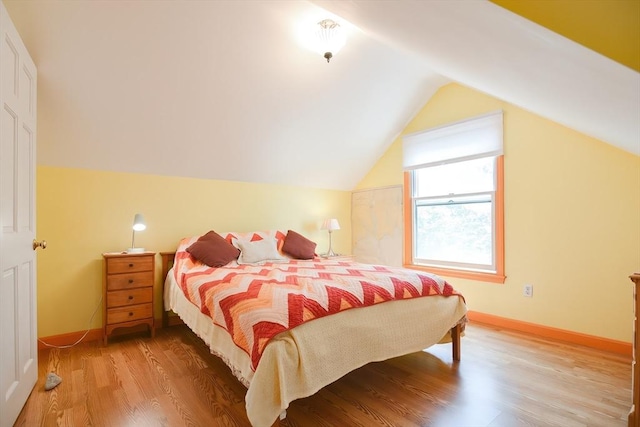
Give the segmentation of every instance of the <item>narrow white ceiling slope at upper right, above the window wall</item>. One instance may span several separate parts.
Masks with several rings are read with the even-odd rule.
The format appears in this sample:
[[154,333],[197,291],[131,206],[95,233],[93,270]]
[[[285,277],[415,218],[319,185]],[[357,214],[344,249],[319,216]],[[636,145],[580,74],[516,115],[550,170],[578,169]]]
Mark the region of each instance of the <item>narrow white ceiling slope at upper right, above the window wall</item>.
[[640,73],[493,3],[314,3],[454,81],[640,155]]

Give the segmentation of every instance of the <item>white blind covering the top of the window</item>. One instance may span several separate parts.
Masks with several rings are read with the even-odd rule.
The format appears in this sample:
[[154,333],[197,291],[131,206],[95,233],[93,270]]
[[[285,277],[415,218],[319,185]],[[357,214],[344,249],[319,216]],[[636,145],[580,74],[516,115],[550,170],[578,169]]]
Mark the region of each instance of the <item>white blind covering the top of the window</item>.
[[405,135],[403,168],[502,155],[502,111]]

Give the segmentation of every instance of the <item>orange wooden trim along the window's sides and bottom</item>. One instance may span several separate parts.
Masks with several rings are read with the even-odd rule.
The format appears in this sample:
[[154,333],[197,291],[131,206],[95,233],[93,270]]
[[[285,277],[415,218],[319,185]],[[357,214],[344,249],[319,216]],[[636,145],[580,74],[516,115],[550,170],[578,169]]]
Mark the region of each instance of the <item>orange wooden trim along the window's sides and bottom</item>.
[[494,224],[494,258],[495,272],[475,271],[468,268],[435,267],[413,263],[414,248],[414,209],[413,209],[413,177],[411,171],[404,172],[403,186],[404,205],[404,254],[403,266],[415,270],[427,271],[440,276],[458,277],[491,283],[504,283],[504,155],[496,158],[496,189]]

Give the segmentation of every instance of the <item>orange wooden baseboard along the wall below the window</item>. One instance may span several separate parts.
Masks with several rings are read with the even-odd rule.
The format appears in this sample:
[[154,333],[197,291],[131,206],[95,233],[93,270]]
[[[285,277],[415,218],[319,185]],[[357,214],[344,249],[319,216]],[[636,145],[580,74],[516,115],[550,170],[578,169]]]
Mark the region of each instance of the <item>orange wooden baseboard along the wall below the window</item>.
[[467,313],[467,318],[472,322],[511,329],[518,332],[526,332],[543,338],[550,338],[571,344],[579,344],[585,347],[629,356],[629,358],[632,357],[633,353],[631,343],[624,341],[582,334],[580,332],[567,331],[565,329],[552,328],[550,326],[523,322],[521,320],[508,319],[506,317],[494,316],[493,314],[480,313],[478,311],[469,311]]

